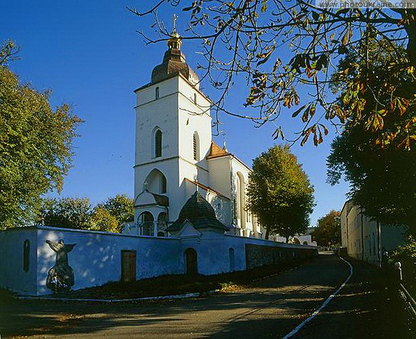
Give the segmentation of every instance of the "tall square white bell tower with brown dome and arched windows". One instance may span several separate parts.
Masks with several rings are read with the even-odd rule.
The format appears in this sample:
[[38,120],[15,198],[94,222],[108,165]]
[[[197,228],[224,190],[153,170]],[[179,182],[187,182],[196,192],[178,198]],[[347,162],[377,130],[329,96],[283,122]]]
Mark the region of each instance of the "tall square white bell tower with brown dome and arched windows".
[[177,218],[196,182],[209,184],[211,101],[187,64],[175,23],[167,45],[150,82],[135,90],[135,221],[138,234],[150,236],[166,235],[164,224]]

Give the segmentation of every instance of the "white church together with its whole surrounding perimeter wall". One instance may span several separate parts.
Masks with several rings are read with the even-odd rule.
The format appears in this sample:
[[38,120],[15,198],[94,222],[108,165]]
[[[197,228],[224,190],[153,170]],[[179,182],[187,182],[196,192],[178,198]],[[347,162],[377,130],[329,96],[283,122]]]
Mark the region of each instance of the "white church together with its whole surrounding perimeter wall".
[[[212,141],[211,101],[173,31],[136,89],[135,222],[123,234],[33,225],[0,231],[0,287],[20,295],[160,275],[301,262],[316,247],[262,238],[245,210],[250,168]],[[58,227],[57,227],[58,226]]]

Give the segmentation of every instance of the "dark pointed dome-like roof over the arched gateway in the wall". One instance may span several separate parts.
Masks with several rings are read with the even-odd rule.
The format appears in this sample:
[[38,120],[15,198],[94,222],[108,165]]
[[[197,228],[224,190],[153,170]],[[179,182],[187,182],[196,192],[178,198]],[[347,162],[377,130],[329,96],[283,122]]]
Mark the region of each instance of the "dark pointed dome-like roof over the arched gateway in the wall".
[[198,191],[193,193],[191,198],[185,202],[180,210],[179,217],[168,227],[168,231],[179,231],[185,220],[189,220],[196,229],[214,227],[224,231],[228,230],[228,227],[216,218],[211,204]]

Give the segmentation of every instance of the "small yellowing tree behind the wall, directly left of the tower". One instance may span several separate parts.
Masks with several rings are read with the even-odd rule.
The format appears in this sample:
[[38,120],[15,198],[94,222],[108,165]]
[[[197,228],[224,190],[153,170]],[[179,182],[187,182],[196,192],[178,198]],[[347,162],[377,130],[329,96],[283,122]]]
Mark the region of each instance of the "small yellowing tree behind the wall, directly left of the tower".
[[135,218],[135,203],[127,195],[117,194],[113,198],[108,198],[105,202],[98,204],[97,208],[108,211],[110,215],[116,218],[117,232],[121,232],[123,225]]

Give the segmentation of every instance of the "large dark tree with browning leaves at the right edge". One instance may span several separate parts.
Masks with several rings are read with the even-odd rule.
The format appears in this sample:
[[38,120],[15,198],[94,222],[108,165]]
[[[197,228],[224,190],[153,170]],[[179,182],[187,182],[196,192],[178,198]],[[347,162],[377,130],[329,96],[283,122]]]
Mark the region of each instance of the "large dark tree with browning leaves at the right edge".
[[[363,207],[367,216],[381,223],[408,225],[410,231],[415,232],[416,150],[410,148],[410,140],[416,139],[413,124],[416,97],[406,101],[406,115],[402,100],[391,101],[396,96],[394,92],[408,91],[408,79],[413,77],[412,73],[402,70],[385,80],[388,67],[401,55],[399,47],[394,49],[389,44],[383,49],[379,44],[365,44],[361,53],[347,53],[333,76],[334,84],[340,87],[338,105],[341,109],[354,111],[361,105],[359,114],[373,120],[382,116],[383,128],[380,129],[378,123],[370,123],[372,131],[369,131],[365,121],[347,120],[327,158],[328,182],[336,184],[344,174],[350,183],[349,197]],[[371,63],[360,57],[363,52],[370,55]],[[353,78],[365,78],[368,92],[378,94],[377,101],[368,92],[359,89],[353,92]],[[390,87],[392,83],[395,84],[393,88]]]

